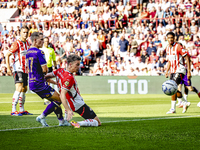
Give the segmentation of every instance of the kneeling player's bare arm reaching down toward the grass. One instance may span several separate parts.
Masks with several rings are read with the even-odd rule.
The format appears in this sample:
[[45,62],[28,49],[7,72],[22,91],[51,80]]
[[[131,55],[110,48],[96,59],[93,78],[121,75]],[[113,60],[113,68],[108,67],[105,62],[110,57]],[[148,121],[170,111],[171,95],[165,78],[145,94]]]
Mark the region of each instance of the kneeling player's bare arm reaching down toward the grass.
[[60,99],[61,99],[63,106],[65,107],[65,110],[67,111],[67,121],[69,121],[73,118],[74,113],[67,104],[66,94],[67,94],[67,90],[61,89]]

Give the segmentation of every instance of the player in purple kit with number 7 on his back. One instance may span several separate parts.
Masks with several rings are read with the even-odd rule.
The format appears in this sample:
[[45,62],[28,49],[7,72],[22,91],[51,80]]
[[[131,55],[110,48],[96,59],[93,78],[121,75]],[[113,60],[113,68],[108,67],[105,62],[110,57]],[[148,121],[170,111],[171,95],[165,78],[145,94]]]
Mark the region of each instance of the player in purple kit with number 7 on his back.
[[[40,122],[44,127],[46,127],[48,124],[45,121],[45,117],[54,112],[59,120],[59,126],[69,126],[69,122],[65,121],[62,115],[59,94],[51,86],[49,86],[47,81],[44,79],[44,75],[47,73],[47,64],[44,52],[39,49],[43,45],[43,34],[34,32],[31,34],[31,41],[32,46],[26,54],[26,63],[29,72],[29,88],[42,99],[47,98],[49,101],[51,101],[44,112],[36,118],[36,121]],[[65,109],[67,109],[69,113],[67,120],[70,120],[73,112],[69,107],[65,107]]]

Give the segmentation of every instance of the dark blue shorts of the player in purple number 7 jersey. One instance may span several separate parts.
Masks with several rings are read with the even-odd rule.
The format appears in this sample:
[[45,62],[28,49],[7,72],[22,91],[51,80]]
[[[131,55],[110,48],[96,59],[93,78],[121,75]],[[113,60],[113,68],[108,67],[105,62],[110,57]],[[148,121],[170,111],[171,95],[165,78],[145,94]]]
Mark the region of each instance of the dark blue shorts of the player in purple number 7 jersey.
[[50,98],[53,93],[55,92],[55,90],[49,86],[49,85],[46,85],[46,87],[42,90],[42,91],[35,91],[33,90],[33,92],[35,92],[38,96],[40,96],[42,99],[43,98]]

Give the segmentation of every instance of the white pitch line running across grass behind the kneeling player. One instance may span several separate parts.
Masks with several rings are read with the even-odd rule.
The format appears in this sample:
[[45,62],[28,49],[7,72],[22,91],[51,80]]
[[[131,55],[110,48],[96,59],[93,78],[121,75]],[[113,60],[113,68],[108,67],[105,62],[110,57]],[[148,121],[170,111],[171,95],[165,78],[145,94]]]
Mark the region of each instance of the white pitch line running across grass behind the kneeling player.
[[[177,116],[177,117],[164,117],[164,118],[145,118],[145,119],[133,119],[133,120],[115,120],[115,121],[104,121],[103,123],[113,123],[113,122],[126,122],[126,121],[147,121],[147,120],[163,120],[163,119],[181,119],[181,118],[193,118],[193,117],[200,117],[200,115],[196,116]],[[42,128],[52,128],[52,127],[59,127],[59,126],[49,126],[49,127],[31,127],[31,128],[15,128],[15,129],[3,129],[3,131],[18,131],[18,130],[30,130],[30,129],[42,129]]]

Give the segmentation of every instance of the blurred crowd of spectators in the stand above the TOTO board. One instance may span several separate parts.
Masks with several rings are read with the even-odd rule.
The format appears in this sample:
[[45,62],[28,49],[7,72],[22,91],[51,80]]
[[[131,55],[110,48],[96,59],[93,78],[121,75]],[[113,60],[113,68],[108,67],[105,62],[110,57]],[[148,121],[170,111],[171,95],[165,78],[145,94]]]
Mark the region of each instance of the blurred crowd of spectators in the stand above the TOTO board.
[[[138,2],[136,7],[128,0],[57,3],[44,0],[38,9],[35,1],[9,0],[8,3],[1,8],[18,7],[21,10],[20,26],[9,30],[3,27],[0,76],[7,75],[5,55],[12,43],[19,39],[23,25],[29,27],[29,37],[36,31],[49,37],[49,47],[56,53],[57,67],[66,67],[66,57],[74,53],[82,58],[77,74],[89,72],[87,75],[90,76],[164,75],[166,34],[173,31],[176,41],[191,56],[192,75],[200,75],[198,0],[149,0],[146,5]],[[137,17],[133,13],[135,10]]]

